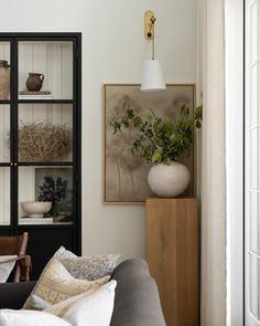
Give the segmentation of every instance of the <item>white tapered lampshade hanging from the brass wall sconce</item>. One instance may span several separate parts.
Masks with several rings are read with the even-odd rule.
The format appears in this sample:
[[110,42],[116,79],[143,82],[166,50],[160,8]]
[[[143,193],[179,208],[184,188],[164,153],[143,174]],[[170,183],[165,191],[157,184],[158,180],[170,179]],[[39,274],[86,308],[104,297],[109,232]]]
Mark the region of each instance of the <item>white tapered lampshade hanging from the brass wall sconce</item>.
[[160,62],[158,60],[144,61],[141,91],[160,91],[165,88]]

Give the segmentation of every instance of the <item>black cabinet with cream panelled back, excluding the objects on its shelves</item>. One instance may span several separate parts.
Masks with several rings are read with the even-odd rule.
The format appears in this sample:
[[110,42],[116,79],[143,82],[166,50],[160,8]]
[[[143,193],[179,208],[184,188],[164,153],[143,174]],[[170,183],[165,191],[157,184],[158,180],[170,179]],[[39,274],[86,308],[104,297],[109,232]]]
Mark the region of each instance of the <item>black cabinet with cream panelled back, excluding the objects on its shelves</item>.
[[[1,57],[1,55],[6,57]],[[9,157],[4,159],[0,157],[0,170],[6,168],[7,175],[10,175],[10,185],[3,182],[3,186],[7,186],[7,191],[10,190],[10,196],[6,192],[4,200],[8,203],[0,203],[0,235],[21,234],[23,231],[29,232],[28,253],[31,254],[33,262],[32,278],[36,280],[47,260],[59,245],[66,246],[76,254],[80,254],[82,251],[82,35],[80,33],[0,33],[0,60],[6,59],[10,62],[10,97],[8,99],[0,99],[0,108],[10,108],[10,111],[9,111],[10,115],[10,128],[8,132]],[[31,70],[44,70],[48,91],[52,92],[52,87],[57,90],[52,92],[54,95],[53,99],[19,98],[19,92],[22,91],[21,85],[25,83],[25,72],[29,67]],[[65,72],[62,67],[64,67]],[[33,71],[28,71],[28,73],[30,72]],[[69,96],[67,97],[66,94],[69,94]],[[25,118],[26,122],[26,119],[30,120],[30,118],[35,118],[35,115],[37,115],[35,120],[41,120],[42,114],[42,120],[44,120],[46,118],[45,115],[50,114],[50,111],[53,116],[57,113],[62,115],[64,111],[72,116],[72,120],[68,122],[72,129],[72,153],[69,159],[57,161],[19,160],[18,144],[21,118]],[[30,117],[28,117],[29,113],[32,113]],[[48,116],[47,119],[50,119]],[[57,119],[55,123],[62,124]],[[2,137],[4,138],[7,135]],[[4,147],[4,144],[6,141],[3,140],[1,146]],[[59,172],[67,171],[68,169],[72,171],[69,177],[72,187],[69,189],[72,197],[69,222],[55,222],[53,224],[20,223],[20,201],[24,197],[23,188],[24,192],[29,193],[28,197],[33,192],[36,196],[37,188],[36,181],[26,181],[25,177],[23,177],[24,169],[28,169],[30,180],[36,180],[37,169],[41,169],[41,171],[46,169],[46,173],[52,170],[54,175],[56,171],[57,176],[59,176]],[[34,189],[30,189],[30,185]],[[35,198],[28,199],[35,200]],[[6,208],[4,211],[1,204],[7,204],[9,209]],[[7,211],[10,211],[10,217],[7,217],[7,213],[4,214]]]

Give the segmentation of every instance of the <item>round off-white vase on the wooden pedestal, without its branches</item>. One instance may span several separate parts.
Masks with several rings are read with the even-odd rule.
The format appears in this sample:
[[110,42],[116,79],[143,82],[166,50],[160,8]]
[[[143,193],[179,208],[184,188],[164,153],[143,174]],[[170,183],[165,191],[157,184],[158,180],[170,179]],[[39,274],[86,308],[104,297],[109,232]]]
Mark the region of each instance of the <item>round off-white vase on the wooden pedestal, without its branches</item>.
[[164,164],[153,166],[148,173],[148,183],[159,197],[176,197],[187,188],[188,182],[188,169],[176,161],[172,161],[169,166]]

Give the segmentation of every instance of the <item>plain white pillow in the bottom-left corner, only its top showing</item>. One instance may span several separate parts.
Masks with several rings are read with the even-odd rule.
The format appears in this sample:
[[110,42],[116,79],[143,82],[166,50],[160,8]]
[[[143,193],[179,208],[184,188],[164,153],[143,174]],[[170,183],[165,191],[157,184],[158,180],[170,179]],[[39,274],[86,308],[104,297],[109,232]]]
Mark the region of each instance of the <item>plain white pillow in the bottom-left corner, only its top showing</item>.
[[72,326],[57,316],[33,311],[0,311],[1,326]]

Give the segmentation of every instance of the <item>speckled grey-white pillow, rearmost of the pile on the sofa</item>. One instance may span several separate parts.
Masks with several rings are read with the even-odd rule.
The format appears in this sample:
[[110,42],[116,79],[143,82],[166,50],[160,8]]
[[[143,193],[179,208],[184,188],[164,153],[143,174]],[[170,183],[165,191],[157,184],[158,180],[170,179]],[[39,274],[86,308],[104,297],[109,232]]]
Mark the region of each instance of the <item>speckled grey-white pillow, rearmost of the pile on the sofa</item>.
[[65,269],[74,277],[79,280],[94,281],[107,275],[111,275],[117,266],[120,254],[104,254],[94,256],[76,256],[71,251],[61,246],[54,254]]

